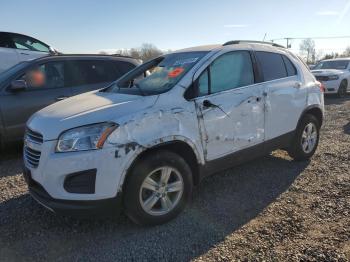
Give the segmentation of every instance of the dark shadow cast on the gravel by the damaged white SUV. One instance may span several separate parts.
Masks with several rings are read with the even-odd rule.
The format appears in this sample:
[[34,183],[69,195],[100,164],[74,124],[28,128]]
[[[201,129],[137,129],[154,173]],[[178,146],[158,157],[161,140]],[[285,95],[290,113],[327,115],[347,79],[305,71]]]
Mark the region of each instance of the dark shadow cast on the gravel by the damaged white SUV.
[[5,260],[171,260],[206,253],[261,213],[308,165],[267,156],[205,179],[175,220],[139,227],[125,216],[58,217],[26,194],[0,203],[0,257]]

